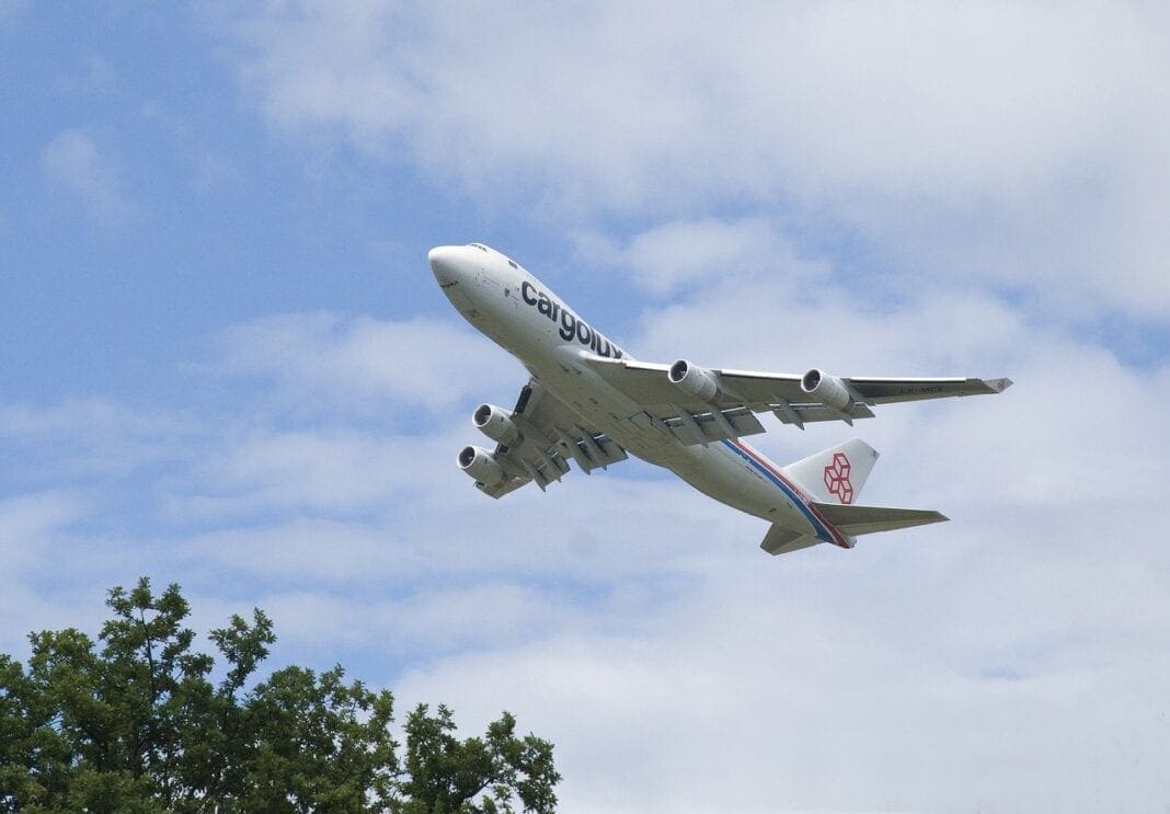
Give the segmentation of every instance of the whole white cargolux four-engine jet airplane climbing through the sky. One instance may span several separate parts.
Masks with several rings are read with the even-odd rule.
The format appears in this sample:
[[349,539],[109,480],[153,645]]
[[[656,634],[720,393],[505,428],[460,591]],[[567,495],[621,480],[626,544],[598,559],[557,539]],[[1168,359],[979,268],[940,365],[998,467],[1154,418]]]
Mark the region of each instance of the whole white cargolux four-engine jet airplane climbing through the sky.
[[452,305],[531,374],[508,411],[480,405],[472,420],[494,449],[460,450],[460,469],[500,498],[628,455],[669,469],[698,491],[771,525],[760,547],[783,554],[820,543],[940,523],[937,511],[855,503],[878,453],[859,439],[778,467],[741,439],[756,414],[804,429],[873,418],[870,406],[1002,393],[1010,379],[893,379],[762,373],[639,361],[515,260],[482,243],[440,246],[431,269]]

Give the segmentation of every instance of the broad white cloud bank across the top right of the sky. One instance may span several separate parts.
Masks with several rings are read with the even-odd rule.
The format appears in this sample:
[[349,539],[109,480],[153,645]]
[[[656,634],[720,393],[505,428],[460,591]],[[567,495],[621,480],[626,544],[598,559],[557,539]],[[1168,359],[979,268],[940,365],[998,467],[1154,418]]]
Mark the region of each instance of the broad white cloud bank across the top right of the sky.
[[1159,23],[1099,4],[301,2],[235,34],[282,127],[493,200],[642,218],[787,201],[923,280],[1162,320]]

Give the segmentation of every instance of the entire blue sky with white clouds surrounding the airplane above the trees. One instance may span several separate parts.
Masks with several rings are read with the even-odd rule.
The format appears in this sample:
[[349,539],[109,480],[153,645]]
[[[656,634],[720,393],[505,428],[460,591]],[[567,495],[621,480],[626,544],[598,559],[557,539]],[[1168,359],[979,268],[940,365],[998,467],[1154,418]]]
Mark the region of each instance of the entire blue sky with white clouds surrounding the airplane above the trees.
[[[569,812],[1170,810],[1166,75],[1156,4],[0,0],[0,651],[150,575],[512,711]],[[641,359],[1016,386],[765,419],[952,518],[852,551],[490,501],[472,241]]]

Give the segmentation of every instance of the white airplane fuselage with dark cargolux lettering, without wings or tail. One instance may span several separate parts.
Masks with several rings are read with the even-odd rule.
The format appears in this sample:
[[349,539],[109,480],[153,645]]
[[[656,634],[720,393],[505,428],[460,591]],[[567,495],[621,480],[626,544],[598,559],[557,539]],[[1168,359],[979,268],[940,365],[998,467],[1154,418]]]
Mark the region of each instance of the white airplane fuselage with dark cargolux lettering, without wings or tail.
[[519,264],[477,243],[439,247],[429,260],[459,312],[519,359],[583,425],[716,501],[801,534],[848,545],[817,516],[808,495],[742,441],[684,446],[649,426],[640,405],[581,361],[585,354],[631,357]]

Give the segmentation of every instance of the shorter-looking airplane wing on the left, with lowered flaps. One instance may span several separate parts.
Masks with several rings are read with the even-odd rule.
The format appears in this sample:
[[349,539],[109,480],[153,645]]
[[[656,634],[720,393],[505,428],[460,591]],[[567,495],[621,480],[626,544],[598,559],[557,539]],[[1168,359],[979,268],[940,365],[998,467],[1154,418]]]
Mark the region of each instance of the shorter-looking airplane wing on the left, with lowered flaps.
[[581,426],[580,416],[535,379],[521,389],[511,420],[522,440],[511,447],[497,444],[495,451],[507,477],[495,485],[475,484],[491,497],[503,497],[531,481],[543,491],[569,474],[570,461],[587,475],[627,457],[607,435]]

